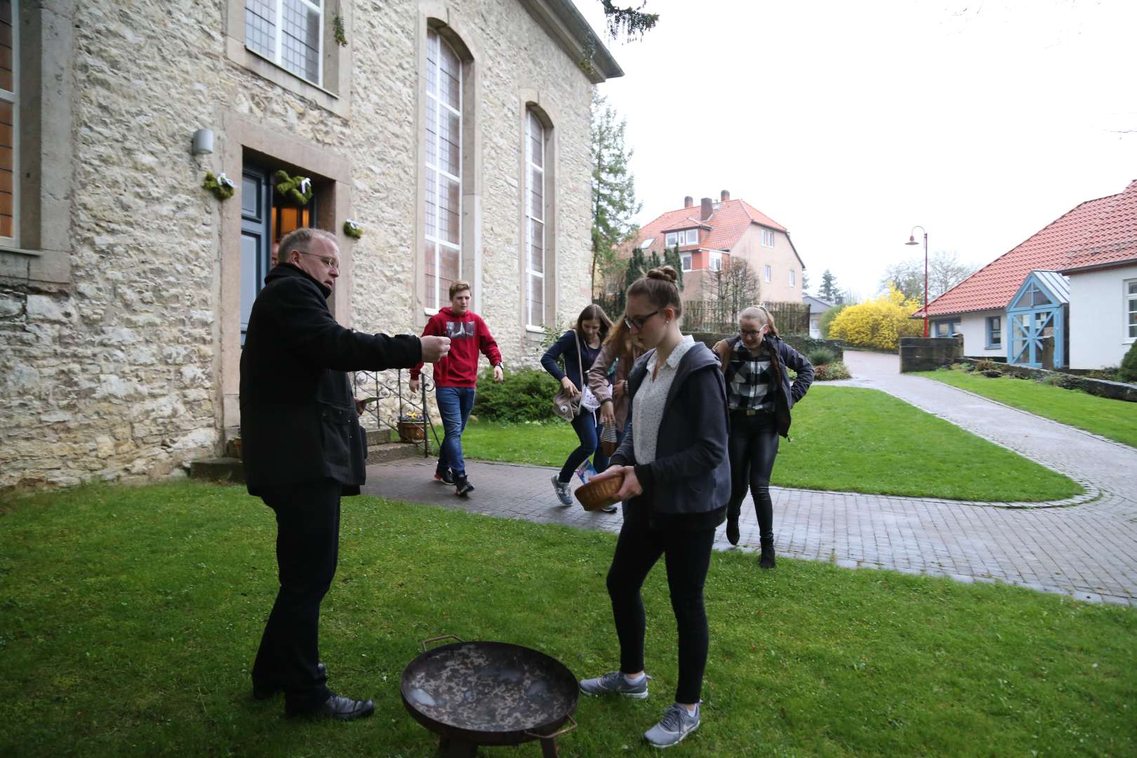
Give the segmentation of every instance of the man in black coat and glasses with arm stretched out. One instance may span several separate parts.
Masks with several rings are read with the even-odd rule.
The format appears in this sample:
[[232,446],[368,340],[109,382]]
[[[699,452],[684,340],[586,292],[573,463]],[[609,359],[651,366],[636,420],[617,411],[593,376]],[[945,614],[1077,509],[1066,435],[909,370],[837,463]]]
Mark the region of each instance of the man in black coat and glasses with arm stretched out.
[[252,666],[252,693],[284,691],[290,716],[348,720],[371,700],[326,686],[319,663],[319,602],[339,557],[340,495],[359,494],[366,440],[346,372],[410,368],[449,350],[443,336],[363,334],[327,307],[339,276],[329,232],[299,228],[281,240],[241,353],[241,440],[249,493],[276,513],[280,591]]

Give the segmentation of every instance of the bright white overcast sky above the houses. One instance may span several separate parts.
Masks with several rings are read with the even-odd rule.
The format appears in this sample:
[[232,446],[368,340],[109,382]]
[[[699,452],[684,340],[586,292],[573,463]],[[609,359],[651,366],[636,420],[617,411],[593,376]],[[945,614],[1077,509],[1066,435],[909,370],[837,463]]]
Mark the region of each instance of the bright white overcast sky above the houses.
[[[637,0],[638,1],[638,0]],[[604,33],[599,0],[575,0]],[[622,78],[644,224],[730,190],[811,290],[871,297],[913,225],[987,264],[1137,178],[1137,2],[648,0]],[[1129,133],[1122,133],[1126,130]],[[919,231],[918,231],[918,239]]]

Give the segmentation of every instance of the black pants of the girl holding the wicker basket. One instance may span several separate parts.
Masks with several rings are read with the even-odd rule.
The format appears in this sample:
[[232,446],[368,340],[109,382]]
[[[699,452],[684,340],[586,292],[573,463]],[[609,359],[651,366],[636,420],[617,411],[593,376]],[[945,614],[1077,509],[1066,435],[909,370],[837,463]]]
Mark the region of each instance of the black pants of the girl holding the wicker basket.
[[620,670],[644,670],[644,599],[640,588],[652,567],[664,557],[671,608],[679,626],[679,684],[675,702],[698,702],[707,665],[707,614],[703,585],[711,567],[714,530],[680,532],[649,530],[646,523],[624,520],[616,555],[608,569],[612,616],[620,638]]

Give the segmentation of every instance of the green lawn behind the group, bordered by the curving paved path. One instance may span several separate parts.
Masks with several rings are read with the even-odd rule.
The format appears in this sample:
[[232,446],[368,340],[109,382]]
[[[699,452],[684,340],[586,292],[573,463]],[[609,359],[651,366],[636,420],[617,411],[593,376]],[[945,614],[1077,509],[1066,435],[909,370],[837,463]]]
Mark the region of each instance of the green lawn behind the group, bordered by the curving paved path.
[[[790,436],[774,465],[778,486],[995,502],[1060,500],[1082,491],[879,390],[814,385],[794,407]],[[463,435],[465,455],[483,460],[561,466],[575,447],[564,422],[471,423]]]

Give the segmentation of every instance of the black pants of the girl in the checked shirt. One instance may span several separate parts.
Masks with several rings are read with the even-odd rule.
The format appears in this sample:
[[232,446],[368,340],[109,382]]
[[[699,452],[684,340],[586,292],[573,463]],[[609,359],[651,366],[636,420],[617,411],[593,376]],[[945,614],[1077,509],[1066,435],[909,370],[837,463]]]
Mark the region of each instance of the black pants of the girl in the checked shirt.
[[738,518],[746,499],[746,488],[754,495],[758,514],[758,535],[774,536],[774,505],[770,499],[770,474],[778,456],[778,427],[773,414],[732,413],[730,415],[730,502],[727,518]]

